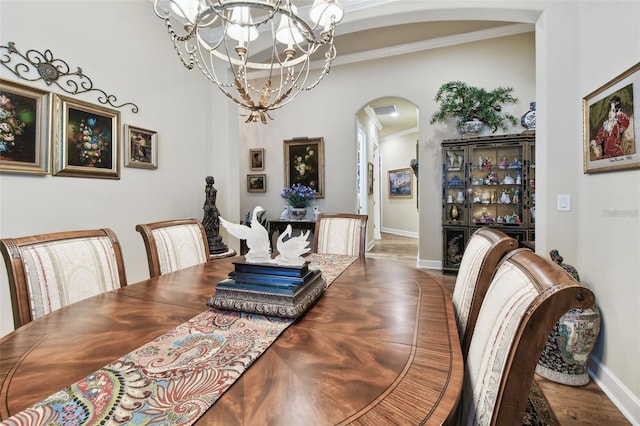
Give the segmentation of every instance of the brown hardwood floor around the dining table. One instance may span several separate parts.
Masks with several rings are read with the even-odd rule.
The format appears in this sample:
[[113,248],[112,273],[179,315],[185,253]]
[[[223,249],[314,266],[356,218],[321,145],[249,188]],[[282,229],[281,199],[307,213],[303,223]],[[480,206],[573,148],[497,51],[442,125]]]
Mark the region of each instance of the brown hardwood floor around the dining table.
[[[382,234],[382,240],[376,241],[367,257],[392,258],[398,262],[416,266],[418,240],[393,234]],[[426,272],[437,277],[450,290],[455,285],[455,275],[445,275],[439,270],[427,269]],[[593,380],[585,386],[566,386],[543,377],[534,376],[559,424],[581,426],[618,426],[631,423],[622,415],[611,400],[602,392]]]

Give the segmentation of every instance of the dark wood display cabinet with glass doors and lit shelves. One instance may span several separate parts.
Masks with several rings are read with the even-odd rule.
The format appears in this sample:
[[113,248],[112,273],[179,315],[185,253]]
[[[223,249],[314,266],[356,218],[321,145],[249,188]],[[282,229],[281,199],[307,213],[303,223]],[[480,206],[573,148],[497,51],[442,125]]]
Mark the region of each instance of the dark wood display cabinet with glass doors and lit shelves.
[[490,226],[534,239],[535,133],[442,141],[444,273],[456,273],[467,240]]

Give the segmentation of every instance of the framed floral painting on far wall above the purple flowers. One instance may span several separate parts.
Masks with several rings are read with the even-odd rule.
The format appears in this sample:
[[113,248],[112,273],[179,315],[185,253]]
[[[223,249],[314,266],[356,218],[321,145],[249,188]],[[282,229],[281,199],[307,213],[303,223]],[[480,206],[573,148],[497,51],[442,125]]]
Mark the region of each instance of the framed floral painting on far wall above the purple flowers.
[[324,139],[296,138],[284,141],[285,187],[300,183],[324,198]]

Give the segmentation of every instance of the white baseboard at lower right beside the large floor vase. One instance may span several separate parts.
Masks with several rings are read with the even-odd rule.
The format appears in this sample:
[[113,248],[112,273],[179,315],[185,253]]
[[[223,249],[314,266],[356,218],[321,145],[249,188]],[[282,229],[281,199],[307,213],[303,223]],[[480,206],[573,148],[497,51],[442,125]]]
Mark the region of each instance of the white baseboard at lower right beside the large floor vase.
[[589,362],[589,376],[632,425],[640,425],[640,399],[593,355]]

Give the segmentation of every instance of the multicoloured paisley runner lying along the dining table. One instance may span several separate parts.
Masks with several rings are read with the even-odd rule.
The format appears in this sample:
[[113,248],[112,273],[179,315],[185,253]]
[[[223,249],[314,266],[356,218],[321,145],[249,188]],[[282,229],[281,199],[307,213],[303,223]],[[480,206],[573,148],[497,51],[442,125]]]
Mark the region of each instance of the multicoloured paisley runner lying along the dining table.
[[[357,257],[307,259],[330,285]],[[292,322],[209,309],[1,424],[193,424]]]

